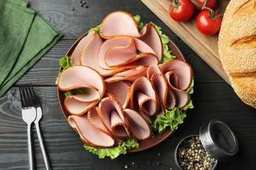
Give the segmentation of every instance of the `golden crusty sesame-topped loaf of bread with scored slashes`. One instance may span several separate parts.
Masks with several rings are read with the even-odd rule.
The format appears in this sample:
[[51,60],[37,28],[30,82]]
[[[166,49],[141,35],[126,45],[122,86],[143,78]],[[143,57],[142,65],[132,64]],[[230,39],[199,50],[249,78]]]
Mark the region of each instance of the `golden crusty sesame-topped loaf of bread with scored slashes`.
[[256,0],[231,0],[219,33],[219,56],[234,92],[256,108]]

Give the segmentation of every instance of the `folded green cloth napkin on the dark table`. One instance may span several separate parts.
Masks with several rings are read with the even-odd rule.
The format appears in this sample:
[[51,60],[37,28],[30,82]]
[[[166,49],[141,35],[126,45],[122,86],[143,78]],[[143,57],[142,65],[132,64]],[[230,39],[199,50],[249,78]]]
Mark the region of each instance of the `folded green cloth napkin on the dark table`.
[[0,0],[0,97],[63,36],[26,0]]

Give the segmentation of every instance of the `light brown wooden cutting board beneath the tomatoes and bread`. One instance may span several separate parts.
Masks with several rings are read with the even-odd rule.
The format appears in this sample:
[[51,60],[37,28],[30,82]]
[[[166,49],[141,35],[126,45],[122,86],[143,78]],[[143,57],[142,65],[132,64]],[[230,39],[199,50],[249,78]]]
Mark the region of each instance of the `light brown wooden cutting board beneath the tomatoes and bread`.
[[[196,28],[196,14],[187,22],[175,22],[169,16],[169,0],[141,0],[156,16],[158,16],[173,32],[175,32],[194,52],[200,56],[216,73],[228,84],[228,76],[225,75],[218,52],[218,34],[207,36]],[[219,14],[224,14],[229,0],[217,1],[214,10],[219,9]]]

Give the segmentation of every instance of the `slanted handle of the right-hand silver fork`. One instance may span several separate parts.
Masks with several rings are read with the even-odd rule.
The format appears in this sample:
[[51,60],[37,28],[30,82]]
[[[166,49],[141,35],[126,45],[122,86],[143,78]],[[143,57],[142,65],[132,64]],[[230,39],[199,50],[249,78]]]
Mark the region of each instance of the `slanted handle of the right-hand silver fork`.
[[45,167],[47,170],[51,170],[51,164],[47,155],[47,150],[45,149],[45,143],[43,142],[43,138],[41,135],[40,127],[39,127],[39,122],[35,122],[35,129],[37,130],[37,137],[39,140],[39,144],[43,153],[43,160],[45,161]]

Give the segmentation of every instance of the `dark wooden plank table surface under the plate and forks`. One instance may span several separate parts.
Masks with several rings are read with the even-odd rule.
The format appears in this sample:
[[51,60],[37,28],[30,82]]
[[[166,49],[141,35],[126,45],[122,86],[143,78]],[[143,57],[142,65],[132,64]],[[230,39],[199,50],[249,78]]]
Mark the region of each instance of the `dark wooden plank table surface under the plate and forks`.
[[[64,33],[64,37],[0,98],[0,169],[28,169],[26,124],[22,120],[17,88],[25,82],[35,86],[43,107],[40,126],[53,169],[177,169],[173,156],[176,145],[187,135],[198,134],[200,127],[213,119],[222,120],[233,129],[240,147],[236,156],[219,162],[216,169],[256,169],[255,109],[242,103],[232,88],[139,0],[86,2],[87,8],[81,7],[79,0],[30,1],[39,14]],[[66,122],[54,82],[58,61],[68,48],[115,10],[139,14],[145,23],[154,22],[179,46],[194,71],[194,109],[187,112],[179,129],[157,146],[119,156],[116,160],[100,160],[83,148],[83,142]],[[36,134],[35,127],[33,134]],[[36,135],[33,139],[37,169],[45,169]]]

